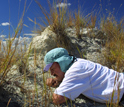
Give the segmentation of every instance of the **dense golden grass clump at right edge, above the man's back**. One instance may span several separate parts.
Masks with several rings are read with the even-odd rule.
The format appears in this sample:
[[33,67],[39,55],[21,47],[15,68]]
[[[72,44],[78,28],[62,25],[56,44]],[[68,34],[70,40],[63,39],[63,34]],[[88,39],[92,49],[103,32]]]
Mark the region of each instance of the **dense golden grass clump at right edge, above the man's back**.
[[[107,20],[102,20],[101,29],[105,32],[107,36],[106,42],[106,61],[107,66],[122,72],[122,67],[124,63],[124,20],[122,19],[119,23],[110,17]],[[124,71],[123,71],[124,72]]]

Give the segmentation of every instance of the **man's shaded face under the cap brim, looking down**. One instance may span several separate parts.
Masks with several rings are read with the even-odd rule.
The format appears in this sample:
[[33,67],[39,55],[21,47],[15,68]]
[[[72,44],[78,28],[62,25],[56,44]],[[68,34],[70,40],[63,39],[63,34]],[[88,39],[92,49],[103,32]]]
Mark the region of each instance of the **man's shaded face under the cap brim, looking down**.
[[58,81],[62,81],[65,73],[61,71],[60,66],[57,62],[54,62],[50,67],[51,75],[55,76]]

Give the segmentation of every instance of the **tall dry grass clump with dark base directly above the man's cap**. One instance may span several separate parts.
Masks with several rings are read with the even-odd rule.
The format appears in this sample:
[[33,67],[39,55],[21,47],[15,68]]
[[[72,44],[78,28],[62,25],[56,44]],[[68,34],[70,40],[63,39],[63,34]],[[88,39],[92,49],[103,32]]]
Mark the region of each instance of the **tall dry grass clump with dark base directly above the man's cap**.
[[[41,9],[41,12],[44,14],[46,22],[42,20],[42,18],[40,18],[40,20],[45,24],[45,25],[49,25],[50,29],[57,34],[57,38],[56,38],[56,43],[57,46],[63,46],[66,49],[69,49],[69,44],[70,44],[70,39],[67,37],[67,33],[65,32],[65,29],[68,27],[66,24],[67,23],[67,19],[68,19],[68,15],[67,15],[67,8],[61,8],[59,7],[58,9],[56,7],[53,7],[50,4],[50,1],[47,0],[48,5],[49,5],[49,10],[50,12],[48,13],[43,6],[37,1],[35,0],[36,3],[38,4],[38,6]],[[57,3],[60,3],[60,0],[57,1]],[[56,2],[53,1],[53,5],[57,4]],[[70,24],[71,23],[71,17],[69,18]],[[69,25],[69,26],[71,26]]]

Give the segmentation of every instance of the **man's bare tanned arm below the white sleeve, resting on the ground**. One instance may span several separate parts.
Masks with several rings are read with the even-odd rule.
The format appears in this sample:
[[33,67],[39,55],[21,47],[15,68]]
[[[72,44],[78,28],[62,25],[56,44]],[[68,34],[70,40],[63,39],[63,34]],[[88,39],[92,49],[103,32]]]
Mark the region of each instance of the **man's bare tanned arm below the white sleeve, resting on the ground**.
[[68,100],[67,97],[64,97],[64,96],[61,96],[61,95],[58,95],[58,94],[55,94],[55,93],[53,93],[52,99],[53,99],[53,103],[55,105],[65,103]]

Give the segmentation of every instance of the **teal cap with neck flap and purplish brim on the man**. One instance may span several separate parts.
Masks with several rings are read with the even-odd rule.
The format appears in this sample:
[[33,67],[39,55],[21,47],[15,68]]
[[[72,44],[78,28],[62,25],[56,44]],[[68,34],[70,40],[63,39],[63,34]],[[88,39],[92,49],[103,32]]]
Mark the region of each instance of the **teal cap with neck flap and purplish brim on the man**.
[[57,62],[60,66],[62,72],[66,72],[71,62],[73,61],[73,56],[69,56],[68,51],[64,48],[55,48],[50,50],[44,58],[46,64],[44,72],[48,71],[54,62]]

